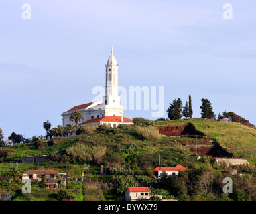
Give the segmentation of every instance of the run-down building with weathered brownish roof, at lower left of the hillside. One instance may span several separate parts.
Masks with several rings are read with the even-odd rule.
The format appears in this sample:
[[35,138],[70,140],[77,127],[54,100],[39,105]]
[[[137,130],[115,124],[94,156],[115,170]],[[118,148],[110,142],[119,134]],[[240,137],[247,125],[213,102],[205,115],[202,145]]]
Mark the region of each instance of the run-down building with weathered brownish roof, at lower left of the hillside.
[[66,173],[52,169],[31,169],[23,173],[22,179],[43,181],[47,188],[66,187]]

